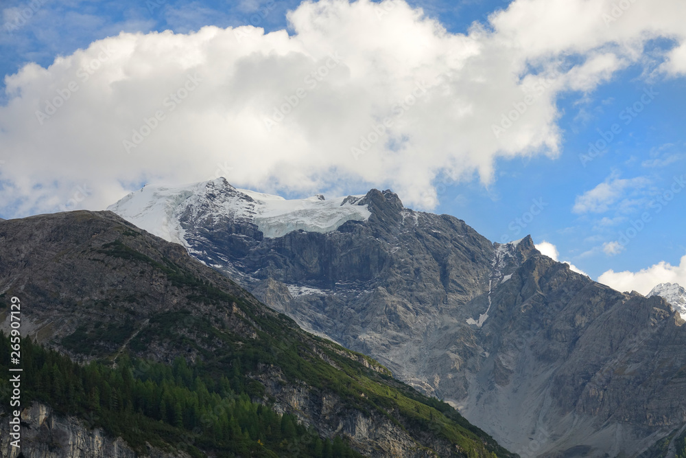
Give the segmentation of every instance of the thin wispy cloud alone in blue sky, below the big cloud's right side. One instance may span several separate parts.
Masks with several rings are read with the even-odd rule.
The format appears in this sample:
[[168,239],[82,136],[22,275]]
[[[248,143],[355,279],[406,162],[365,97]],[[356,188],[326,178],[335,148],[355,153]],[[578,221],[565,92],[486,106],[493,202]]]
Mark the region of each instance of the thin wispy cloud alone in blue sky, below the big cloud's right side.
[[577,214],[604,213],[615,203],[619,203],[619,209],[628,211],[642,202],[641,200],[629,199],[628,196],[635,195],[638,190],[643,189],[649,183],[650,181],[643,176],[620,179],[616,173],[613,173],[592,190],[584,192],[581,196],[576,196],[572,211]]

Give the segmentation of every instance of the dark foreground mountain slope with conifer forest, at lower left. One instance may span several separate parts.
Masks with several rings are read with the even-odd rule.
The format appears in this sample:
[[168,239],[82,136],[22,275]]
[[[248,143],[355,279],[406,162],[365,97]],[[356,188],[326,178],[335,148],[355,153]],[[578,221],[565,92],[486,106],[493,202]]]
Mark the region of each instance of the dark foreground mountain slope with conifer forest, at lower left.
[[19,301],[24,336],[21,450],[3,377],[3,458],[513,456],[110,211],[3,221],[0,243],[0,330]]

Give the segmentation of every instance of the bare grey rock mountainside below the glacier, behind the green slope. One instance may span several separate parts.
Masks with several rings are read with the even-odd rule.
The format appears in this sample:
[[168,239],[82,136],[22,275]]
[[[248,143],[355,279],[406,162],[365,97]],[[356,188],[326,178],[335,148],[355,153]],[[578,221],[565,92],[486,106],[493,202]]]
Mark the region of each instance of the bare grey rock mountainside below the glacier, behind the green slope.
[[493,244],[390,191],[359,204],[366,221],[281,238],[203,218],[210,198],[178,221],[199,260],[522,456],[632,456],[686,424],[686,326],[663,299],[573,273],[530,237]]

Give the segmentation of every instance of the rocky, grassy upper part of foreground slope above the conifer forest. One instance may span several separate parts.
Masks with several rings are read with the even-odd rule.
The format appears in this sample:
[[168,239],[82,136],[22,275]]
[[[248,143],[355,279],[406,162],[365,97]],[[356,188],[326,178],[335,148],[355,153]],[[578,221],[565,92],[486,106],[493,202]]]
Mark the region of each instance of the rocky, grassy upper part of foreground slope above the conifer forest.
[[[183,247],[113,213],[77,211],[1,222],[0,242],[0,323],[5,332],[10,329],[6,302],[17,296],[23,335],[73,360],[97,360],[104,365],[99,371],[116,368],[126,358],[171,364],[181,356],[198,376],[235,374],[231,383],[247,390],[252,402],[294,415],[314,431],[309,437],[343,437],[365,456],[510,456],[447,404],[390,378],[390,371],[375,360],[303,332],[230,279],[193,260]],[[38,374],[29,378],[38,385],[24,387],[27,393],[38,392],[42,382],[37,379]],[[110,380],[133,383],[122,382],[121,374]],[[101,385],[102,393],[110,392]],[[92,395],[88,402],[105,409],[104,396],[94,401],[98,397]],[[224,394],[217,396],[217,402],[224,402]],[[226,396],[226,402],[234,402],[234,395]],[[113,397],[106,405],[121,412],[126,400],[115,402]],[[101,444],[95,453],[119,450],[119,456],[128,456],[130,449],[121,441],[103,438],[97,430],[86,432],[69,417],[36,413],[43,407],[35,405],[25,411],[24,437],[31,438],[27,441],[35,446],[29,450],[38,454],[32,456],[53,456],[40,455],[43,439],[50,437],[49,453],[55,456],[85,456],[79,453],[93,444]],[[182,414],[175,427],[182,428],[191,413]],[[128,425],[117,427],[126,433]],[[205,437],[202,428],[169,433],[169,427],[161,436],[166,442],[186,437],[202,453],[221,451],[198,439]],[[207,434],[213,437],[211,431]],[[298,452],[307,446],[298,440],[281,456],[289,456],[292,447]],[[167,447],[178,449],[174,443]]]

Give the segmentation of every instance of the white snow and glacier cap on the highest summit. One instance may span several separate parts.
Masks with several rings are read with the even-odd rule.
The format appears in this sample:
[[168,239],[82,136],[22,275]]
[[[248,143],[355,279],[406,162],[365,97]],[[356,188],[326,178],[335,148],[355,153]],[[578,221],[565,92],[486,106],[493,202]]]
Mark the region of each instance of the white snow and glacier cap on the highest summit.
[[181,216],[193,220],[229,216],[252,222],[266,238],[278,238],[291,231],[325,233],[335,231],[344,222],[367,220],[367,205],[357,205],[362,196],[325,199],[321,194],[287,200],[250,190],[241,190],[220,178],[178,187],[146,185],[122,198],[108,210],[134,225],[164,238],[188,246]]

